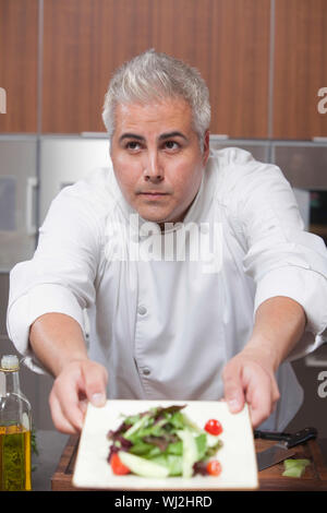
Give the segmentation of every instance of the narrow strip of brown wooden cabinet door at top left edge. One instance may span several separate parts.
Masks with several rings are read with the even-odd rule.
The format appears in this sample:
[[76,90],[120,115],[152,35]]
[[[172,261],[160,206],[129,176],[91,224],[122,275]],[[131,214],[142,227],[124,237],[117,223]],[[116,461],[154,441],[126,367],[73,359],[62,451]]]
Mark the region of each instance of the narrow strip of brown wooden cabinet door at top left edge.
[[2,133],[37,131],[37,41],[38,0],[0,0]]

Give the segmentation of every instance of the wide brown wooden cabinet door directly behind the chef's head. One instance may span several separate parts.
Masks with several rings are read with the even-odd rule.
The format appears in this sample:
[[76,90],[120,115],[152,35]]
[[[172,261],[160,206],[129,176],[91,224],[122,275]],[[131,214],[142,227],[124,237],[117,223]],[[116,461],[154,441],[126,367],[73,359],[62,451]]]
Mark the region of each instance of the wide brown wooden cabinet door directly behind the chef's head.
[[269,0],[45,0],[44,132],[105,131],[112,71],[148,48],[207,81],[211,133],[267,136]]

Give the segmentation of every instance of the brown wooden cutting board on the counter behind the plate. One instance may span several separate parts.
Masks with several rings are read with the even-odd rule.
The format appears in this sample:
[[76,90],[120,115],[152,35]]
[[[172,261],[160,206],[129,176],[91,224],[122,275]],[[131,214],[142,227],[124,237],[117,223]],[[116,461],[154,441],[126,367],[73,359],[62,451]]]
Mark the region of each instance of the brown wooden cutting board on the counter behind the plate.
[[[78,491],[72,485],[72,476],[78,449],[78,436],[70,437],[61,455],[57,470],[51,479],[53,491]],[[276,442],[268,440],[255,440],[256,452],[261,452],[274,445]],[[266,468],[258,473],[259,490],[281,491],[327,491],[327,467],[325,465],[318,442],[311,440],[296,448],[296,457],[305,457],[311,465],[305,468],[301,478],[283,477],[283,463]],[[80,489],[81,490],[81,489]]]

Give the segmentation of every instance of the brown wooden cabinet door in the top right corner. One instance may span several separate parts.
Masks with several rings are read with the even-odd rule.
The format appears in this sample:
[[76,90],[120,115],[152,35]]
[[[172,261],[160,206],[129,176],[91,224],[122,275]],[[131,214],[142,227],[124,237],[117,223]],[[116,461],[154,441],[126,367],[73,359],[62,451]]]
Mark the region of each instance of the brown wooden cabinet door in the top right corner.
[[276,0],[274,139],[327,136],[327,1]]

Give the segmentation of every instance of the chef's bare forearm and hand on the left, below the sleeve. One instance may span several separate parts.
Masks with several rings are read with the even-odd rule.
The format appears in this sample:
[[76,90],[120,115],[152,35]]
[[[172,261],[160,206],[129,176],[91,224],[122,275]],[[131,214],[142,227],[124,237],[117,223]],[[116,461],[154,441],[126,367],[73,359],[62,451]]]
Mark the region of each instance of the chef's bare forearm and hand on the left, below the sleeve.
[[55,377],[49,397],[52,420],[59,431],[78,432],[86,401],[106,402],[106,369],[88,359],[80,324],[62,313],[46,313],[31,326],[29,343]]

